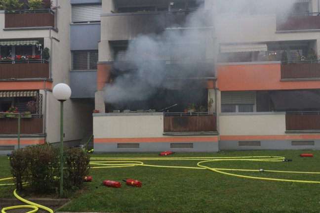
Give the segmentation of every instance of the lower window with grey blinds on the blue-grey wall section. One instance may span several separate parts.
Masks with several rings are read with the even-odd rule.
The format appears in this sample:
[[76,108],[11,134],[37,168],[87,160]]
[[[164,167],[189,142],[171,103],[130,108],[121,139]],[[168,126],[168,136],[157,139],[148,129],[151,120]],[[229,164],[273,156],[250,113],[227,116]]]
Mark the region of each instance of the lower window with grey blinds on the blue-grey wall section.
[[97,62],[98,50],[72,52],[72,70],[96,70]]

